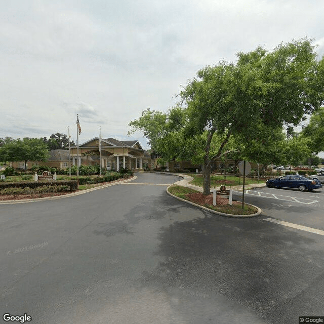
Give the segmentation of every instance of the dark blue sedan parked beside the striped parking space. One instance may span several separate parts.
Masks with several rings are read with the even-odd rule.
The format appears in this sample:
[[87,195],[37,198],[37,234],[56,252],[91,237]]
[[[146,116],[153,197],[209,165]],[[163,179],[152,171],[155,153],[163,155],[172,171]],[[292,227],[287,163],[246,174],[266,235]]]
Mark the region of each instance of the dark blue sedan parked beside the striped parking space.
[[270,188],[298,188],[300,191],[311,191],[322,187],[319,180],[298,175],[281,176],[276,179],[267,180],[265,184]]

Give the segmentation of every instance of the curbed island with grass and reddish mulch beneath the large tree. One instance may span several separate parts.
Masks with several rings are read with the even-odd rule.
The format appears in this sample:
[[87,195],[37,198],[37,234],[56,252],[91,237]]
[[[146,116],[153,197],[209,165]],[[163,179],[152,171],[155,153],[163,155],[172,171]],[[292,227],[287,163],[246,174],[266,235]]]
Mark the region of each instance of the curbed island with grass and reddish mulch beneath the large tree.
[[222,216],[253,217],[262,212],[260,208],[250,204],[244,204],[242,208],[242,203],[239,201],[233,201],[232,205],[229,205],[228,199],[220,196],[217,196],[216,206],[213,206],[213,194],[204,195],[197,190],[175,184],[169,186],[167,192],[177,199]]

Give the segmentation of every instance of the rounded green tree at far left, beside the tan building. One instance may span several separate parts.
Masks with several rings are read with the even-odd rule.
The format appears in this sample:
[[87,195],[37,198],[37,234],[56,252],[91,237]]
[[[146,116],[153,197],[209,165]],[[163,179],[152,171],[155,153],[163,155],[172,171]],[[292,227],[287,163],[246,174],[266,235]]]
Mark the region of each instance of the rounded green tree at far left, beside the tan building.
[[8,161],[45,161],[48,158],[48,148],[42,139],[25,137],[5,144],[0,149]]

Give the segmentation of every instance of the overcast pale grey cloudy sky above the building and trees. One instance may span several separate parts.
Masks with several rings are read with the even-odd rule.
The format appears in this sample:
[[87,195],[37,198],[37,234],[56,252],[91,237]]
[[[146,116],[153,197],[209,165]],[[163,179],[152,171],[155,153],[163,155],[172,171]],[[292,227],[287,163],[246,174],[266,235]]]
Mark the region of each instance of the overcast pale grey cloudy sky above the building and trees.
[[258,46],[314,38],[322,0],[10,0],[0,8],[0,137],[127,137],[198,69]]

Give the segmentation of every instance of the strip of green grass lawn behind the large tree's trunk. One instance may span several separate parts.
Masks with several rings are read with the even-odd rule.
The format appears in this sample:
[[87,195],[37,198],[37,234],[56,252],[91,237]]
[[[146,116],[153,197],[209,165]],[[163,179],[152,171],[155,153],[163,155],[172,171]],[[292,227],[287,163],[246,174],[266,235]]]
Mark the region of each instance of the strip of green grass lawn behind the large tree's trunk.
[[[193,177],[193,180],[190,181],[190,184],[193,184],[195,186],[203,187],[204,186],[204,178],[201,174],[190,174],[191,177]],[[251,179],[251,178],[245,178],[245,184],[256,184],[256,183],[265,183],[265,180],[259,180],[258,179]],[[224,179],[224,176],[215,176],[211,175],[211,188],[212,187],[220,187],[221,185],[225,185],[226,187],[230,186],[238,186],[243,185],[243,177],[231,177],[227,176],[226,180]]]

